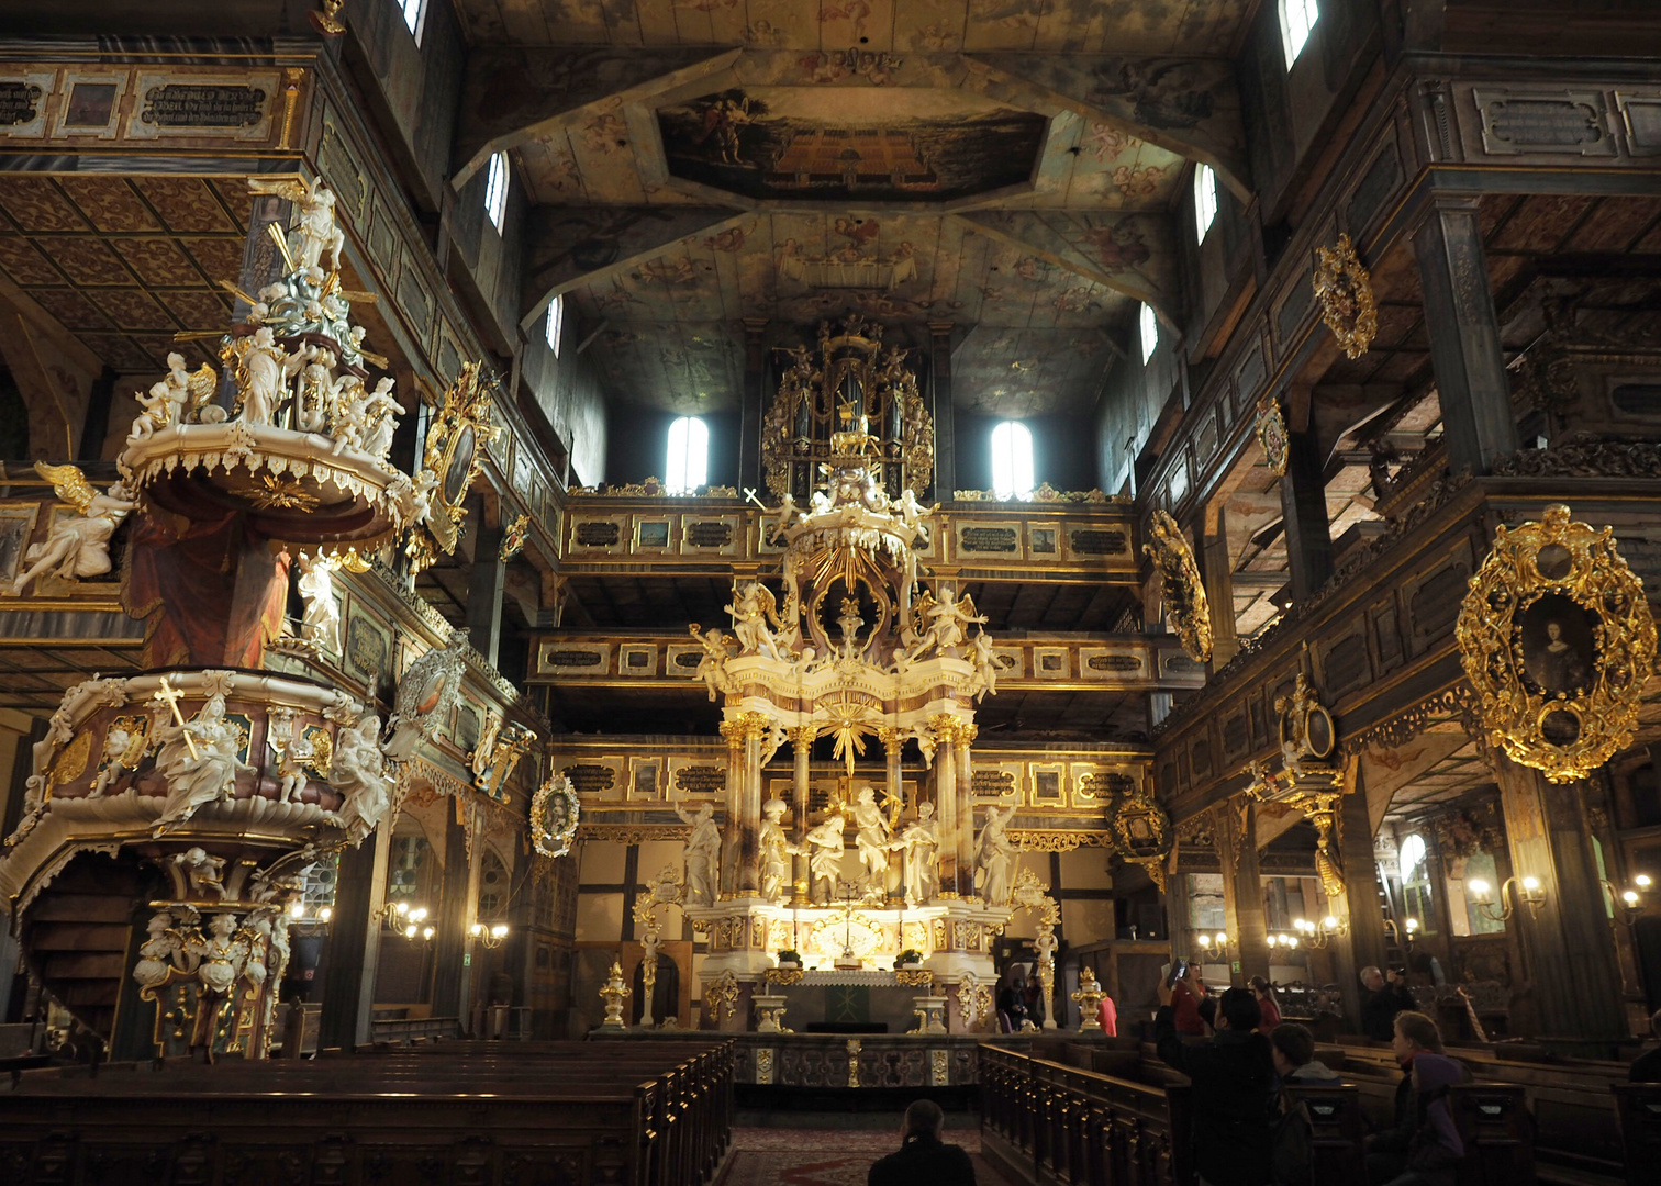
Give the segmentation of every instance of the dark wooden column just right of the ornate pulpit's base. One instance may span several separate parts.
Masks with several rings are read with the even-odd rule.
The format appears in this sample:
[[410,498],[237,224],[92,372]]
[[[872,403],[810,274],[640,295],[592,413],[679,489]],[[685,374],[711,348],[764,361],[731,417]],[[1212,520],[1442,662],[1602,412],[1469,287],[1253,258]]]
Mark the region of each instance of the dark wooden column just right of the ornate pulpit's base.
[[349,1051],[370,1040],[375,970],[380,967],[379,912],[385,890],[385,850],[380,829],[375,829],[360,845],[341,854],[336,870],[319,1048]]

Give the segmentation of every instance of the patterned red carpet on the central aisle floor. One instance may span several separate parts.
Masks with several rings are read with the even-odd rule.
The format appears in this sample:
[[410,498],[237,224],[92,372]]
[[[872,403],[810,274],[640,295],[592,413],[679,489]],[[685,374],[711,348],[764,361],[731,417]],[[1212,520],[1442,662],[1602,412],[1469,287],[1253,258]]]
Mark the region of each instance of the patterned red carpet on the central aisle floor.
[[[948,1130],[945,1139],[968,1149],[980,1186],[1005,1186],[1007,1179],[980,1159],[978,1130]],[[721,1186],[865,1186],[870,1163],[899,1148],[899,1133],[734,1128],[733,1148]]]

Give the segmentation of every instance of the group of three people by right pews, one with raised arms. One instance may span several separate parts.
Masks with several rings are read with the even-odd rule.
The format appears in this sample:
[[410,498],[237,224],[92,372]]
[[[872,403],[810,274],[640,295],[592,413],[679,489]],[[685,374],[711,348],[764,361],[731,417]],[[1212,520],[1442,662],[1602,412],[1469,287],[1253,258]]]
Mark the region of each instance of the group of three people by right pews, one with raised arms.
[[[1447,1056],[1437,1023],[1414,1008],[1399,973],[1364,968],[1362,983],[1364,1030],[1389,1040],[1402,1065],[1394,1123],[1367,1138],[1367,1181],[1453,1186],[1465,1146],[1447,1095],[1465,1068]],[[1208,1033],[1209,1041],[1193,1041]],[[1159,1058],[1193,1083],[1193,1159],[1203,1186],[1311,1181],[1309,1116],[1282,1086],[1339,1076],[1316,1060],[1306,1027],[1281,1022],[1267,980],[1213,995],[1176,965],[1159,980],[1154,1041]]]

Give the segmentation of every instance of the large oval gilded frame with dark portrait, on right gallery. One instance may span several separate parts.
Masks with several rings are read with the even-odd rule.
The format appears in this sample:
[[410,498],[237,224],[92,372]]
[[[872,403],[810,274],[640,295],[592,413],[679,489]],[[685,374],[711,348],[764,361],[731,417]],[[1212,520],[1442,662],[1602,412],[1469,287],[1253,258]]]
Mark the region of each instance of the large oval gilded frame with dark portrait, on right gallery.
[[1656,626],[1614,530],[1570,522],[1498,528],[1457,626],[1488,744],[1553,782],[1603,766],[1633,736]]

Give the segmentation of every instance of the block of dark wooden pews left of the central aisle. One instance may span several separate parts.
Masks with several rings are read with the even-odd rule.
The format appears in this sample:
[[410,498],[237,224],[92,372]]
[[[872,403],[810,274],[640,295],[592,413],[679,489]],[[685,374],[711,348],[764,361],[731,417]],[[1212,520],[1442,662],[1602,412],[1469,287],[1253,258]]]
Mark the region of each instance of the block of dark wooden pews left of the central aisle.
[[0,1096],[0,1168],[27,1183],[703,1186],[731,1148],[733,1041],[110,1063]]

